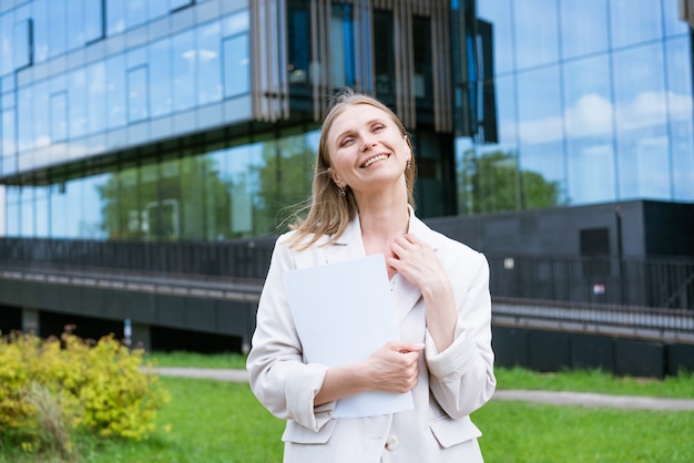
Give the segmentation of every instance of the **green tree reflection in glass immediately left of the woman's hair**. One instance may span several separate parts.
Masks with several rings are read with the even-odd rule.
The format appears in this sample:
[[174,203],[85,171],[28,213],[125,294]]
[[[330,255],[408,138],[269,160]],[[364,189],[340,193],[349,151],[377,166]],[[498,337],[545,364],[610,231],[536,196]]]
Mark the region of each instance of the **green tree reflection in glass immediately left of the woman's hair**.
[[314,153],[303,136],[292,136],[266,143],[263,161],[251,167],[259,183],[254,226],[272,233],[310,195]]

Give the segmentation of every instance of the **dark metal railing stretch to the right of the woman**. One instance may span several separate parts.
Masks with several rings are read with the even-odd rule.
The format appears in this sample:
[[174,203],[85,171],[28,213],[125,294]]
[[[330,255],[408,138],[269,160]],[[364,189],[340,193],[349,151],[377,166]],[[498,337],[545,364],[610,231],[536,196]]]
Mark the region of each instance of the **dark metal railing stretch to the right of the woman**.
[[498,297],[694,309],[694,258],[486,253]]

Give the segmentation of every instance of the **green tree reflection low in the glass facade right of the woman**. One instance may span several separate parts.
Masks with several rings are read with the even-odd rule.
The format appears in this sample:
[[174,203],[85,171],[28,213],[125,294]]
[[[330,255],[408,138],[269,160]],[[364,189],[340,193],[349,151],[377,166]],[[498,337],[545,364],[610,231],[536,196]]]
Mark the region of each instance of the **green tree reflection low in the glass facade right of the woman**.
[[537,172],[518,171],[513,154],[503,152],[474,156],[463,154],[459,200],[463,214],[534,209],[562,204],[559,182]]

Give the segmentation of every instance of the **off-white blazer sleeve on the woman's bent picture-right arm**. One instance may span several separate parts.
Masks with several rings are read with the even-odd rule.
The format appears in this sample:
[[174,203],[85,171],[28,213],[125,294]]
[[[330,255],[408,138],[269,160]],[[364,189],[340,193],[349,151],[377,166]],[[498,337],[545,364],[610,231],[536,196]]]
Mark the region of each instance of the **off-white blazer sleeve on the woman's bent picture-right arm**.
[[458,310],[453,343],[438,352],[428,331],[425,340],[431,392],[453,419],[467,416],[487,403],[497,385],[489,264],[482,254],[469,248],[462,256],[458,254],[458,259],[465,265],[449,274]]

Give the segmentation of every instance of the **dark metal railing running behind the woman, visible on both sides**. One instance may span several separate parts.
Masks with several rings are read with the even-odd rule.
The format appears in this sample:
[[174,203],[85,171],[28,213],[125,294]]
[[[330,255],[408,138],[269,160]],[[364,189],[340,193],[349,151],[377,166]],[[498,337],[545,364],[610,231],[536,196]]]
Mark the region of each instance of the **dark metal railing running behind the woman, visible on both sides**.
[[[263,280],[274,237],[224,243],[0,239],[0,269],[141,275],[183,284]],[[557,303],[694,309],[694,258],[486,251],[493,297]],[[120,278],[120,277],[119,277]],[[144,278],[144,277],[143,277]]]

